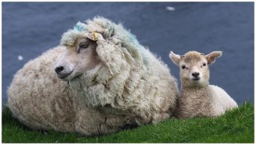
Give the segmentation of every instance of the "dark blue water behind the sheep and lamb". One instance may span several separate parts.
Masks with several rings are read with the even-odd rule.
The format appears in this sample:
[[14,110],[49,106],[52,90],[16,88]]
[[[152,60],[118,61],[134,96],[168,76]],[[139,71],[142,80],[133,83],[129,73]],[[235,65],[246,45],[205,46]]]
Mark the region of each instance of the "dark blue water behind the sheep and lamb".
[[57,46],[60,36],[77,21],[96,15],[122,22],[178,79],[179,70],[168,57],[170,50],[177,54],[223,51],[210,67],[210,83],[224,88],[239,104],[254,101],[253,2],[3,2],[2,102],[17,70]]

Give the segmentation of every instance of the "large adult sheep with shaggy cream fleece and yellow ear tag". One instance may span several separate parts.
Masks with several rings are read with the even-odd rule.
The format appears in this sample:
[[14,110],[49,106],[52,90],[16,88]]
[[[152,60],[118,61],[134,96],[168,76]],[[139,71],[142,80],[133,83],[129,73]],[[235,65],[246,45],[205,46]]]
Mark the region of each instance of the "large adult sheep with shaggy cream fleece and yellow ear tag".
[[170,117],[178,90],[167,65],[121,24],[86,22],[17,72],[8,89],[13,115],[30,128],[84,135]]

